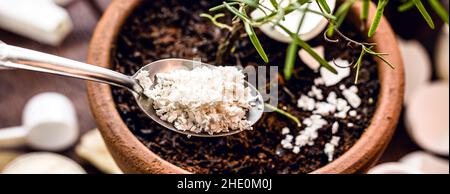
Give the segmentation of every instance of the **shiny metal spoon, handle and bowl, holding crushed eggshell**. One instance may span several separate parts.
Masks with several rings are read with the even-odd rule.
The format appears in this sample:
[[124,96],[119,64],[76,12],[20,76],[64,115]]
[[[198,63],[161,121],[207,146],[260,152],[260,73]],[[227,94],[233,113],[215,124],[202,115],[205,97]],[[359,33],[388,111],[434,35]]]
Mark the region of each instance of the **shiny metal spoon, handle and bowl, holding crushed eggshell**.
[[[219,137],[241,132],[239,130],[234,130],[224,133],[208,134],[205,132],[194,133],[190,131],[177,130],[173,126],[173,124],[161,120],[156,115],[155,110],[152,106],[152,100],[143,95],[143,89],[136,80],[136,76],[143,70],[146,70],[150,73],[150,78],[152,79],[153,83],[155,83],[155,75],[158,73],[171,72],[178,69],[190,70],[194,68],[194,65],[214,67],[212,65],[186,59],[164,59],[145,65],[133,76],[127,76],[106,68],[89,65],[86,63],[81,63],[78,61],[73,61],[70,59],[33,50],[10,46],[0,41],[0,67],[63,75],[126,88],[133,93],[137,104],[142,109],[142,111],[147,114],[148,117],[172,131],[176,131],[188,136]],[[250,108],[247,113],[247,120],[250,121],[251,125],[253,125],[261,118],[264,111],[264,108],[261,108],[263,107],[263,99],[261,94],[255,87],[253,87],[249,83],[246,84],[251,88],[252,95],[257,96],[257,100],[255,102],[256,105],[252,106],[252,108]]]

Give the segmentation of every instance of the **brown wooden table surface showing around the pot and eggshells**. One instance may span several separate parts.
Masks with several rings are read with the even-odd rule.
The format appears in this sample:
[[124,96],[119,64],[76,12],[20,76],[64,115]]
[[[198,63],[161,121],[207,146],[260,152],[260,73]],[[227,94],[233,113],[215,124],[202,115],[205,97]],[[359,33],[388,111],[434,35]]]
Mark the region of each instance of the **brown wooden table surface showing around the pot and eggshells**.
[[[52,53],[78,61],[86,61],[92,32],[101,15],[101,11],[106,8],[111,0],[95,1],[97,4],[87,0],[77,0],[67,6],[74,22],[74,31],[59,47],[45,46],[3,30],[0,30],[0,39],[8,44]],[[427,45],[427,48],[432,48],[432,45]],[[88,105],[84,81],[20,70],[0,70],[0,128],[20,125],[25,103],[32,96],[42,92],[59,92],[74,102],[82,133],[95,128],[95,122]],[[19,148],[18,150],[32,151],[28,148]],[[380,162],[396,161],[414,150],[419,150],[419,148],[408,137],[403,124],[400,124]],[[73,149],[64,151],[62,154],[80,162],[88,172],[99,172],[77,158]]]

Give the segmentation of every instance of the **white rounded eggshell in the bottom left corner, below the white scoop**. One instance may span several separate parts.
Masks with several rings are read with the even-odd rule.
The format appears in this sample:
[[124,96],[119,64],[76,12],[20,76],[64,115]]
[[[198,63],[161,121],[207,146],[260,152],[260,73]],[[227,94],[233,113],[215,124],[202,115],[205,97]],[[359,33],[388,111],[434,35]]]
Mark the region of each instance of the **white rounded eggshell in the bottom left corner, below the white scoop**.
[[5,166],[4,174],[86,174],[73,160],[49,152],[35,152],[17,157]]

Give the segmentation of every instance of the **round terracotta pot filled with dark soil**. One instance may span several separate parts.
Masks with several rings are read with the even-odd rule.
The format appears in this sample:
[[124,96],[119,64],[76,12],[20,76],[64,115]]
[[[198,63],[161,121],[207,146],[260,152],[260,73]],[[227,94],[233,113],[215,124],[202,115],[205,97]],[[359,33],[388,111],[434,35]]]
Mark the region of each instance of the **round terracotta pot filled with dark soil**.
[[[141,1],[112,2],[95,30],[89,49],[89,63],[111,68],[111,50],[116,37],[126,18]],[[355,4],[350,14],[356,22],[359,21],[360,6]],[[373,18],[374,13],[375,7],[371,5],[369,19]],[[396,65],[396,69],[392,70],[378,61],[381,90],[372,124],[346,153],[312,173],[365,172],[378,160],[394,133],[402,108],[404,76],[397,41],[385,18],[382,18],[372,41],[377,43],[377,51],[389,53],[386,59]],[[138,141],[116,110],[110,86],[91,82],[87,86],[98,127],[112,156],[124,172],[189,173],[163,160]]]

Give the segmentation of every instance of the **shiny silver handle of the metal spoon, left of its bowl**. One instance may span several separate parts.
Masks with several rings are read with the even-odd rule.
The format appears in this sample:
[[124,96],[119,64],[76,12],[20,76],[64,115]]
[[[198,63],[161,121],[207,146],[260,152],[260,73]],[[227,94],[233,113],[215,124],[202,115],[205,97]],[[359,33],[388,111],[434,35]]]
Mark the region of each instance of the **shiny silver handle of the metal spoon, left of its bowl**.
[[0,41],[0,67],[2,66],[102,82],[131,91],[140,91],[140,86],[130,76],[78,61],[10,46]]

